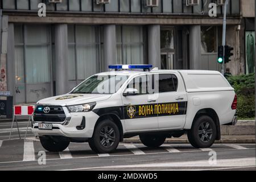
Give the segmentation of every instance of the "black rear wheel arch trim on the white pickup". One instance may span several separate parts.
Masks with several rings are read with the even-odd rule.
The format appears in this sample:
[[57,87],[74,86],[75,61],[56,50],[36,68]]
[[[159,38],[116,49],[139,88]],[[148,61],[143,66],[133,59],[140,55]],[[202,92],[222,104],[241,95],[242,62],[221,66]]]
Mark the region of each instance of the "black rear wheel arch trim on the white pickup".
[[218,118],[218,114],[216,113],[216,111],[212,108],[200,109],[199,111],[197,111],[193,119],[192,125],[196,121],[196,119],[199,118],[201,115],[208,115],[210,118],[213,119],[216,125],[216,131],[217,131],[216,140],[220,140],[221,139],[220,120]]

